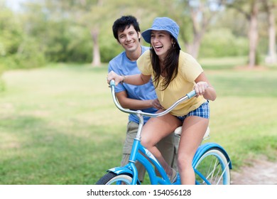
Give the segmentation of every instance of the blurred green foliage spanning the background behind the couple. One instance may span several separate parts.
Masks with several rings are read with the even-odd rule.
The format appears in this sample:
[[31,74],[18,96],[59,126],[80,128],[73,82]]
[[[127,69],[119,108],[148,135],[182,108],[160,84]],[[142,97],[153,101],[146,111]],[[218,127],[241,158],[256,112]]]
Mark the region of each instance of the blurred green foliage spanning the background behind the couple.
[[[179,40],[184,50],[182,44],[191,44],[197,38],[194,31],[199,31],[202,26],[202,23],[197,23],[199,27],[192,26],[192,4],[188,1],[103,0],[102,4],[96,0],[26,1],[20,12],[11,11],[4,6],[5,1],[1,2],[0,62],[6,70],[36,68],[47,62],[91,63],[94,50],[92,32],[97,32],[101,61],[107,63],[122,51],[112,36],[112,24],[122,15],[136,16],[141,31],[149,28],[157,16],[173,18],[180,25]],[[244,5],[247,5],[246,1]],[[234,9],[213,12],[209,6],[204,7],[202,16],[214,20],[207,25],[200,58],[247,55],[246,18]],[[201,20],[201,17],[197,19]],[[261,27],[267,27],[259,18],[260,23]],[[268,46],[267,31],[260,34],[259,56],[266,53]]]

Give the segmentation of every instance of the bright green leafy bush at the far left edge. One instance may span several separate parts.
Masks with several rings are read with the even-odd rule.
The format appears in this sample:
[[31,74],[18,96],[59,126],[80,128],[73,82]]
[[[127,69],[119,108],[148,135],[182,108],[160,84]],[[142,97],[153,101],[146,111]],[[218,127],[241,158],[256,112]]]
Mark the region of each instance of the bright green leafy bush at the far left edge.
[[4,70],[45,65],[44,49],[38,38],[25,33],[21,21],[9,9],[0,10],[0,74]]

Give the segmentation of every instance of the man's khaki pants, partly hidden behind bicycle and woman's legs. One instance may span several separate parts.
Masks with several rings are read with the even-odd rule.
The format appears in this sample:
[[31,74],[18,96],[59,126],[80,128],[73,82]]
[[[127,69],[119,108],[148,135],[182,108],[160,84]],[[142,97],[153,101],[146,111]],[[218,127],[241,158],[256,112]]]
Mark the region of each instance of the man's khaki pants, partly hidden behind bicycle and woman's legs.
[[[136,138],[136,132],[139,128],[139,124],[136,124],[136,122],[129,122],[127,125],[127,131],[126,131],[126,139],[123,146],[123,154],[122,154],[122,160],[121,160],[121,166],[125,166],[129,162],[129,157],[131,154],[131,149],[133,145],[133,141]],[[172,168],[177,170],[177,151],[178,146],[176,148],[176,141],[178,138],[174,135],[174,133],[166,136],[161,141],[158,142],[157,148],[161,151],[161,154],[163,155],[163,158],[165,158],[165,161],[170,165]],[[138,168],[139,172],[139,181],[143,181],[143,178],[146,173],[146,169],[144,166],[136,162],[136,168]]]

